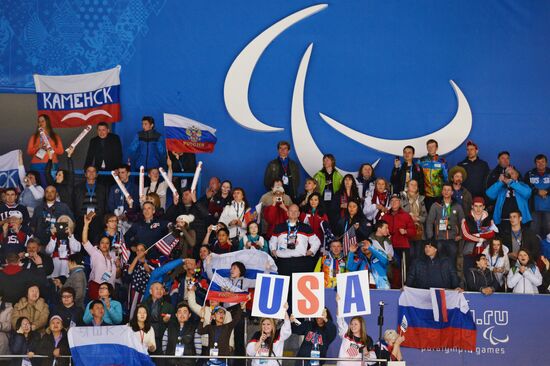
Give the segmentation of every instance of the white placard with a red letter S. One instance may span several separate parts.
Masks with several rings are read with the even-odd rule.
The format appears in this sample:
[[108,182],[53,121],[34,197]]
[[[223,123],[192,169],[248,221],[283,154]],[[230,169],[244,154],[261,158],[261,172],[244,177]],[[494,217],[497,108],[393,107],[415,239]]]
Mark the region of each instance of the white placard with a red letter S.
[[292,314],[296,318],[319,318],[325,308],[322,272],[292,274]]

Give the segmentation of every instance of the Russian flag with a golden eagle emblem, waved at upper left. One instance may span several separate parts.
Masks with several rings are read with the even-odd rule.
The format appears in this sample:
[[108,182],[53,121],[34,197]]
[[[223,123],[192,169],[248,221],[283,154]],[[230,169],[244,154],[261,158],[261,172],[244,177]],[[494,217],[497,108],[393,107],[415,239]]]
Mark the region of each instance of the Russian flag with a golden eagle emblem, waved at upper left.
[[216,130],[177,114],[164,113],[166,149],[177,153],[211,153],[216,145]]

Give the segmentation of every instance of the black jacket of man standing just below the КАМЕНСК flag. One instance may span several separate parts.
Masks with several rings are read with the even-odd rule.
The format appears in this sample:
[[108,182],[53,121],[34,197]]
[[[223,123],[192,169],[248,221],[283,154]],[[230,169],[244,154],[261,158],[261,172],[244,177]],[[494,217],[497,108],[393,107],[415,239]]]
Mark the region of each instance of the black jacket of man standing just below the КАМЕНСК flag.
[[[105,168],[101,167],[105,161]],[[122,144],[118,135],[109,133],[103,144],[101,138],[96,136],[90,140],[86,162],[84,166],[93,165],[97,170],[113,170],[122,165]]]

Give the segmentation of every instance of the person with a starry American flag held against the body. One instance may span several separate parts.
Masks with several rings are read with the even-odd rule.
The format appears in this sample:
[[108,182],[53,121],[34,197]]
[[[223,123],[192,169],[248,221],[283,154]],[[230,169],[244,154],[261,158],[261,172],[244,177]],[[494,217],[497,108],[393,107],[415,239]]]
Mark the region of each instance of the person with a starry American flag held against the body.
[[136,252],[134,259],[130,262],[130,265],[126,269],[129,278],[130,293],[128,295],[128,306],[130,311],[130,318],[134,317],[136,306],[141,303],[147,282],[149,282],[150,274],[153,271],[149,260],[146,258],[145,245],[136,245]]

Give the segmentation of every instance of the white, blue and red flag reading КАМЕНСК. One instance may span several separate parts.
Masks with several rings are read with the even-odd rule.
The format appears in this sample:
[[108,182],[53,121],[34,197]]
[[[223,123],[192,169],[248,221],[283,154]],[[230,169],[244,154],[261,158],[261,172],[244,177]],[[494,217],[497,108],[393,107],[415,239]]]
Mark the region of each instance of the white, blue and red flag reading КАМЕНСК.
[[120,66],[80,75],[34,75],[38,114],[53,127],[120,121]]

